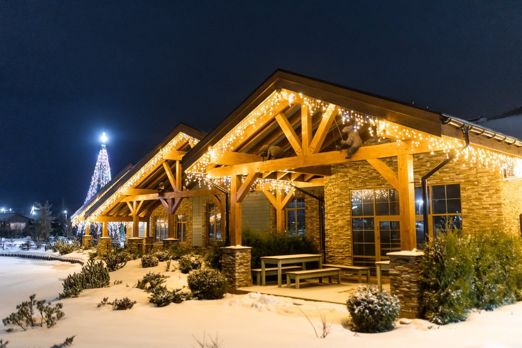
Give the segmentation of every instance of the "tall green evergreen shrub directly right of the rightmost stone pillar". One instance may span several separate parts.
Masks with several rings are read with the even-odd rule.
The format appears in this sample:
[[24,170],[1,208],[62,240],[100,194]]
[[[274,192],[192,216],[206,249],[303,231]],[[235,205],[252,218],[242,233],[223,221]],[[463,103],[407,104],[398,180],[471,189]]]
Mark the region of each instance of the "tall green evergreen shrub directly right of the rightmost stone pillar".
[[429,321],[447,324],[468,317],[475,302],[472,245],[469,235],[448,230],[424,246],[424,304]]

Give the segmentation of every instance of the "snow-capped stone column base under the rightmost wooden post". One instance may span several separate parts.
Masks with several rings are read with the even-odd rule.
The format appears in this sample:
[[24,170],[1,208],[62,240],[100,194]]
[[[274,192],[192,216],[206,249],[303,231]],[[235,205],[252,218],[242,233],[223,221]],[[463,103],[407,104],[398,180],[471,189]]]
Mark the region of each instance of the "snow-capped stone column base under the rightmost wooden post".
[[422,251],[388,252],[390,290],[400,301],[401,318],[422,318]]

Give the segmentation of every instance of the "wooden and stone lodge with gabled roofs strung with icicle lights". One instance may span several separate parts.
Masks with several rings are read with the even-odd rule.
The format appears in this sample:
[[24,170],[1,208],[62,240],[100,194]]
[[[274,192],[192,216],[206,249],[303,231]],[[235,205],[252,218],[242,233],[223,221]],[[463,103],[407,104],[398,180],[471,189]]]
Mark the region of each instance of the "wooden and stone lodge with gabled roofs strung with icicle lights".
[[[338,150],[345,127],[363,142],[351,158]],[[262,159],[264,145],[282,157]],[[99,252],[124,222],[138,247],[205,247],[227,229],[237,246],[248,229],[305,234],[328,263],[374,266],[416,248],[424,226],[520,234],[521,158],[522,141],[479,125],[277,71],[209,134],[178,125],[72,218],[86,242],[103,224]]]

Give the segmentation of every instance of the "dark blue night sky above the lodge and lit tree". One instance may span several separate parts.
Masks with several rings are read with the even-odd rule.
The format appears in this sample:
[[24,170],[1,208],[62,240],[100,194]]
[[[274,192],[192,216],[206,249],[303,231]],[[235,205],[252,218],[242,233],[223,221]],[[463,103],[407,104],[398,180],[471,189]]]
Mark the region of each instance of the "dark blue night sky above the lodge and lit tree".
[[522,105],[520,1],[0,0],[0,207],[85,199],[277,68],[468,119]]

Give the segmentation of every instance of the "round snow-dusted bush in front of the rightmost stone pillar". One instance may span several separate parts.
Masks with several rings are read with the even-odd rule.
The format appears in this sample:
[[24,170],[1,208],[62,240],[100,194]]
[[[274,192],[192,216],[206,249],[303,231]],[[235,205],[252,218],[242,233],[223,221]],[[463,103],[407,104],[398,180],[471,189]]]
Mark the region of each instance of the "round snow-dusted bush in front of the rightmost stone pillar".
[[399,299],[375,285],[362,285],[346,301],[355,331],[386,332],[399,318]]

